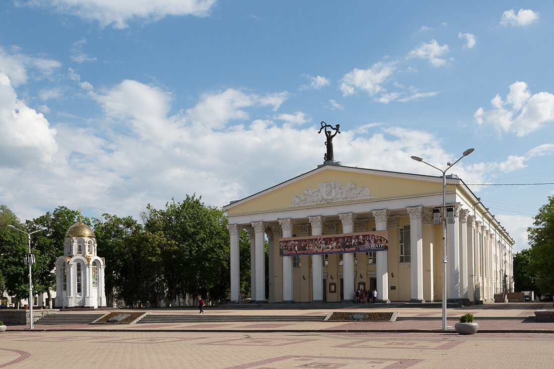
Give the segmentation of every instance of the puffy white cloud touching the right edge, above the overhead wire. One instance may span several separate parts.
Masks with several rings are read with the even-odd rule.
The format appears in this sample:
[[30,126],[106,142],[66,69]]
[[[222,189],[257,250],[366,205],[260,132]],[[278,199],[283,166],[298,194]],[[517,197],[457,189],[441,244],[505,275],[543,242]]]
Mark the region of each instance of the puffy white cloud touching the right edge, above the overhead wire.
[[554,121],[554,95],[540,92],[531,95],[525,82],[510,85],[510,92],[503,101],[500,95],[491,100],[494,109],[480,107],[474,114],[480,124],[491,124],[499,130],[525,136]]

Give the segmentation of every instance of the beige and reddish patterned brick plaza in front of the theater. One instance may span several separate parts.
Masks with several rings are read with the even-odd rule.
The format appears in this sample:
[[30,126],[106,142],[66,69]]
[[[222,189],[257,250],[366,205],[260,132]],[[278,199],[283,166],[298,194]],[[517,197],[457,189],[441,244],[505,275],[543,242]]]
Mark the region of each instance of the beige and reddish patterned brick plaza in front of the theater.
[[[529,319],[551,304],[494,304],[472,312],[476,335],[440,330],[440,309],[392,309],[396,322],[197,322],[9,326],[0,334],[0,368],[554,368],[554,323]],[[386,311],[352,307],[332,311]],[[209,315],[320,315],[329,309],[230,310]],[[192,309],[153,314],[197,314]],[[81,314],[75,312],[75,314]],[[500,318],[504,319],[500,319]],[[261,319],[260,319],[261,320]],[[454,325],[455,320],[448,320]],[[434,331],[427,331],[433,328]]]

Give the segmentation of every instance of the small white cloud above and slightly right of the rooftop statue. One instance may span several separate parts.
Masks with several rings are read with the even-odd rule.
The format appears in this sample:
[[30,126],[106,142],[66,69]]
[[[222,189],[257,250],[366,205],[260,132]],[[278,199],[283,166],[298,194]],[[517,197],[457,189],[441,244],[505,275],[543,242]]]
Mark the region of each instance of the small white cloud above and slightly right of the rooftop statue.
[[366,91],[373,96],[383,89],[382,84],[394,72],[394,63],[376,63],[370,69],[358,69],[342,76],[340,89],[343,96],[356,93],[356,90]]

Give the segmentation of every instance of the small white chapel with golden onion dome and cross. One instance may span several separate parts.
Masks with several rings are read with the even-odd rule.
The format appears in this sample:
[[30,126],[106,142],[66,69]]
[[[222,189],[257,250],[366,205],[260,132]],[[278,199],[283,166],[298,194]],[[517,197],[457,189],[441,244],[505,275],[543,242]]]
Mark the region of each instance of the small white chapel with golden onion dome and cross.
[[57,307],[104,307],[104,258],[96,255],[96,235],[81,221],[65,233],[64,254],[56,259]]

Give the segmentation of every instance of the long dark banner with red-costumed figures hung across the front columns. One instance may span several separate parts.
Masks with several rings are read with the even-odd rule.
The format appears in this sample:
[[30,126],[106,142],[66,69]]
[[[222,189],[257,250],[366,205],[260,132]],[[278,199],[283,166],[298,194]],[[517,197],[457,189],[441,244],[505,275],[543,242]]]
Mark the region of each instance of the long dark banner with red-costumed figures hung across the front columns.
[[387,230],[279,239],[279,256],[343,254],[378,250],[388,250]]

